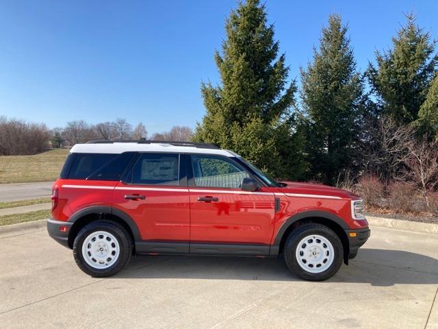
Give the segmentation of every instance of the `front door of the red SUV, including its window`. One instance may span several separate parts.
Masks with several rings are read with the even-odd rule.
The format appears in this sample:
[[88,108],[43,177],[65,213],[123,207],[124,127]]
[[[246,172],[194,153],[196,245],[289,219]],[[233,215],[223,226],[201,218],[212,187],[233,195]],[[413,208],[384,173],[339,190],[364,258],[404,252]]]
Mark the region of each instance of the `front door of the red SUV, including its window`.
[[269,245],[274,229],[274,193],[263,191],[263,187],[256,192],[242,191],[242,180],[250,173],[233,158],[193,154],[187,157],[187,167],[190,252],[230,250],[229,254],[242,254],[203,245],[209,243]]

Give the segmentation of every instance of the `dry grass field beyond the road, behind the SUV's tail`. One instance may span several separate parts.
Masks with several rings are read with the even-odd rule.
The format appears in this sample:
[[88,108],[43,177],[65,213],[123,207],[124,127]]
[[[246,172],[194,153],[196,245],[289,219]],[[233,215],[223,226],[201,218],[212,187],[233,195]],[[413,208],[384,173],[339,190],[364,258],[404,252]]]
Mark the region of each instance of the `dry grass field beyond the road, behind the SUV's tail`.
[[51,149],[34,156],[0,156],[0,184],[56,180],[69,151]]

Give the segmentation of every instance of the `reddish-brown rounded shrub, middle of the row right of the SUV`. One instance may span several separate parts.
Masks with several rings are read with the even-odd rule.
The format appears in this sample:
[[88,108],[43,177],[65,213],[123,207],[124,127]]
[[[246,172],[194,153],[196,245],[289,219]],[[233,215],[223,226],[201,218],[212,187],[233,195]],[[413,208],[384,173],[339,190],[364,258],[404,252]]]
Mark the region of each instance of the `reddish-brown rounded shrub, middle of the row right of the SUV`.
[[392,182],[388,185],[388,208],[396,212],[418,212],[415,204],[418,199],[418,192],[413,184],[406,182]]

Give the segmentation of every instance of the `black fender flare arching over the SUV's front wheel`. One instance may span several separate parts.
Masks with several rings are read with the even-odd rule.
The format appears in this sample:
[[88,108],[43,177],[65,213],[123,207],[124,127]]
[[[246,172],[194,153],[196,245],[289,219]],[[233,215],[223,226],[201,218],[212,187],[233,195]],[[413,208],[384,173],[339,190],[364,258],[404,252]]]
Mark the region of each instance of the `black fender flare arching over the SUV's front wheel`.
[[337,225],[339,225],[344,230],[350,229],[347,226],[344,219],[333,214],[332,212],[322,211],[322,210],[307,210],[307,211],[303,211],[303,212],[298,212],[298,214],[292,215],[291,217],[286,219],[285,222],[283,223],[283,225],[279,228],[279,231],[276,233],[274,243],[272,243],[272,245],[271,245],[270,254],[271,255],[279,254],[281,240],[283,239],[285,232],[287,232],[287,229],[290,226],[294,225],[294,223],[296,223],[296,221],[299,221],[300,219],[312,218],[312,217],[313,218],[318,217],[318,218],[322,218],[322,219],[328,219],[329,221],[333,221],[333,222],[337,223]]

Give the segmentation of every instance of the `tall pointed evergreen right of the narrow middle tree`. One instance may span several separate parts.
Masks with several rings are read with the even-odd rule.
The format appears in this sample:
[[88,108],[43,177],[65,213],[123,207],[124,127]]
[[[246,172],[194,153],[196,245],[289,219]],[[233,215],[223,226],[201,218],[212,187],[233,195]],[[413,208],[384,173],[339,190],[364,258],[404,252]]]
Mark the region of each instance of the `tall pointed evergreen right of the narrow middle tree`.
[[392,49],[376,51],[376,66],[370,63],[368,77],[381,112],[397,123],[411,123],[418,119],[436,71],[435,41],[409,14],[392,42]]

